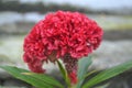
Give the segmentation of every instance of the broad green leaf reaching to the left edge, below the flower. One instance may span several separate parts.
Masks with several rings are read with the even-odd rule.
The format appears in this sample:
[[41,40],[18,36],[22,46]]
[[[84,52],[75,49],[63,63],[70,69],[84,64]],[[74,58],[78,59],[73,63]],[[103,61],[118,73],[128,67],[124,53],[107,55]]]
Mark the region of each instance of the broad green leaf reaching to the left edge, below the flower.
[[[31,74],[28,75],[25,73],[30,73],[29,70],[16,68],[13,66],[0,66],[0,68],[7,70],[9,74],[14,76],[18,79],[24,80],[36,88],[63,88],[63,86],[58,81],[48,77],[47,75],[41,74]],[[57,84],[56,84],[57,82]]]

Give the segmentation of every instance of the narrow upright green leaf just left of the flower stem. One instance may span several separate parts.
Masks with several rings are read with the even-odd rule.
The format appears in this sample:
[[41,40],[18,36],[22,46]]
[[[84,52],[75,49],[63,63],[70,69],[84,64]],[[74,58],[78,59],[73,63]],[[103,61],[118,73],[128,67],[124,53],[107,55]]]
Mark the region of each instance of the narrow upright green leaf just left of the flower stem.
[[65,70],[65,68],[63,67],[63,65],[61,64],[59,61],[57,61],[57,65],[59,67],[59,70],[63,75],[63,78],[65,79],[66,84],[68,85],[68,87],[70,87],[70,80],[69,80],[69,77],[67,75],[67,72]]

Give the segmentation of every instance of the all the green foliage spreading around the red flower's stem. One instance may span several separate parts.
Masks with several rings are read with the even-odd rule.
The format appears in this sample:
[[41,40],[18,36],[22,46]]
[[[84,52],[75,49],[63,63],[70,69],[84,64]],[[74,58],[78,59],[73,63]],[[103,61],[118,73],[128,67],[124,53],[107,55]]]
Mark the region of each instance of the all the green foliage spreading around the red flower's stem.
[[[91,57],[86,57],[79,61],[78,63],[78,80],[79,81],[77,82],[77,85],[72,85],[67,76],[66,69],[63,67],[59,61],[57,61],[57,64],[68,88],[91,88],[111,77],[114,77],[132,68],[132,61],[130,61],[124,64],[106,69],[97,74],[95,77],[91,77],[88,81],[84,84],[85,78],[89,77],[91,74],[95,73],[94,70],[87,74],[87,69],[91,65]],[[64,86],[59,84],[56,79],[45,74],[35,74],[35,73],[31,73],[29,70],[16,68],[13,66],[0,66],[0,68],[7,70],[9,74],[14,76],[15,78],[24,80],[36,88],[64,88]],[[106,88],[108,85],[100,86],[97,88]]]

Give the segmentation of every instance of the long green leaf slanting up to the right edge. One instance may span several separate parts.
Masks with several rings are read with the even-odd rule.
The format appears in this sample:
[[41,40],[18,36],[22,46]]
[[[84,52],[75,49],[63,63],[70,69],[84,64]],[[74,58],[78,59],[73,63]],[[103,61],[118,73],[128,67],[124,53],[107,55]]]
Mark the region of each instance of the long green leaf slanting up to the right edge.
[[130,68],[132,68],[132,61],[127,62],[124,64],[114,66],[112,68],[106,69],[103,72],[101,72],[100,74],[96,75],[95,77],[92,77],[90,80],[88,80],[82,88],[91,88],[92,86],[105,81],[111,77],[114,77],[125,70],[129,70]]

